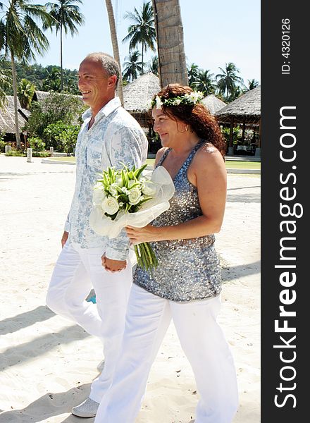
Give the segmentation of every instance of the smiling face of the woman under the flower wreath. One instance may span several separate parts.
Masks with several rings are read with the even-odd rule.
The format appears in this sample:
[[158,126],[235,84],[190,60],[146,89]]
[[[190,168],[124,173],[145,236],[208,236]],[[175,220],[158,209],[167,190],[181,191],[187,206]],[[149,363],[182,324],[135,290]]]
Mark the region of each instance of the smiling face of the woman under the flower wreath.
[[161,109],[156,109],[156,107],[152,109],[151,116],[154,119],[154,131],[161,138],[161,145],[163,147],[173,147],[175,142],[179,141],[180,133],[185,132],[185,123],[175,121],[163,114]]

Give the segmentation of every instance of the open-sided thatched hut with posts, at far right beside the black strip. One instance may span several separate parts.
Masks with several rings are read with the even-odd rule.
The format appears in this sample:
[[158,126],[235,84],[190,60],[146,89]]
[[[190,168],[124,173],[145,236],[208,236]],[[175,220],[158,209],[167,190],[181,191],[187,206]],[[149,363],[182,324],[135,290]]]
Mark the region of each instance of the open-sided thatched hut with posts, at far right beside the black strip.
[[223,109],[216,112],[219,123],[230,125],[230,140],[228,154],[233,154],[233,127],[242,125],[242,140],[245,128],[254,128],[259,131],[259,140],[255,155],[261,153],[261,87],[246,92]]

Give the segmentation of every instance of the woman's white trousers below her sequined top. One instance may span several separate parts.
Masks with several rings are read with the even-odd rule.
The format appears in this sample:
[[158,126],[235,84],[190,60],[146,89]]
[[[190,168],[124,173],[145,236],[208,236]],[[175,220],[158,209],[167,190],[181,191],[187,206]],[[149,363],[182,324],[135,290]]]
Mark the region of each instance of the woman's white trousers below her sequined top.
[[216,321],[220,307],[219,297],[173,302],[133,284],[113,384],[101,400],[95,423],[135,422],[151,364],[171,318],[200,394],[195,422],[231,423],[238,404],[237,378],[230,348]]

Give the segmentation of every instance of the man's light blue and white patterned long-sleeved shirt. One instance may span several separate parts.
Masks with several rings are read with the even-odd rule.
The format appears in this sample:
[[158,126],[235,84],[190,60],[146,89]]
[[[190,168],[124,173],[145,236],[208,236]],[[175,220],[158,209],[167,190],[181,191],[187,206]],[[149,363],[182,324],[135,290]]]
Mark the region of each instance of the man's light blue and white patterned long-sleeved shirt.
[[115,97],[95,116],[88,129],[92,111],[82,114],[84,123],[75,147],[76,182],[70,212],[65,225],[68,242],[82,248],[102,247],[106,257],[125,260],[128,257],[129,240],[123,230],[117,238],[97,235],[89,226],[92,211],[92,193],[97,179],[109,166],[121,168],[120,161],[128,166],[142,166],[147,159],[147,137],[139,123]]

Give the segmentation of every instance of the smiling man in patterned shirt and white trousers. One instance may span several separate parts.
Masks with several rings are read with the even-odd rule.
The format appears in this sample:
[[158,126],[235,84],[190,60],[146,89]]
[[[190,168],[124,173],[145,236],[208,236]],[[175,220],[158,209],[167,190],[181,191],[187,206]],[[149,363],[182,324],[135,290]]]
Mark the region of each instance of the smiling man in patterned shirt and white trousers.
[[[141,166],[147,158],[147,138],[116,96],[118,63],[104,53],[89,54],[80,64],[78,86],[89,105],[75,148],[76,183],[58,257],[46,295],[54,312],[75,321],[104,343],[104,369],[94,380],[89,398],[73,407],[79,417],[94,417],[111,385],[125,324],[132,283],[129,240],[97,235],[89,227],[92,188],[108,166]],[[87,302],[94,287],[97,306]]]

